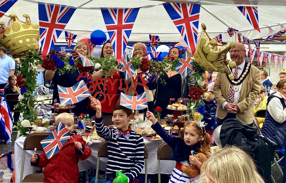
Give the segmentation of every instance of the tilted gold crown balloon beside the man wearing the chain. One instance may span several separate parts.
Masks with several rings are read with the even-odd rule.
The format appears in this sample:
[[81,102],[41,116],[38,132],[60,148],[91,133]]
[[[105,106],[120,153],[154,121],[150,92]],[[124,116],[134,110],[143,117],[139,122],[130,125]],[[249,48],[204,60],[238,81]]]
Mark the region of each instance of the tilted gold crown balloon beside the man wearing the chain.
[[235,42],[227,45],[218,43],[206,33],[206,25],[202,23],[200,41],[194,53],[195,61],[205,71],[217,71],[231,74],[227,52],[235,48]]

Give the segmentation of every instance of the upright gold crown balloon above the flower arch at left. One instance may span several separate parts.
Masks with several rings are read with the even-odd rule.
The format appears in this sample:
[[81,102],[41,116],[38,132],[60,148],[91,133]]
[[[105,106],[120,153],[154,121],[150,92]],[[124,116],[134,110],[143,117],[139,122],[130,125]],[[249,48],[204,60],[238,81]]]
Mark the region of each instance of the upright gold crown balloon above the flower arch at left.
[[11,26],[5,27],[0,22],[0,45],[10,51],[14,58],[23,57],[30,50],[39,50],[39,24],[31,23],[30,17],[24,14],[26,22],[21,22],[17,15],[9,15]]

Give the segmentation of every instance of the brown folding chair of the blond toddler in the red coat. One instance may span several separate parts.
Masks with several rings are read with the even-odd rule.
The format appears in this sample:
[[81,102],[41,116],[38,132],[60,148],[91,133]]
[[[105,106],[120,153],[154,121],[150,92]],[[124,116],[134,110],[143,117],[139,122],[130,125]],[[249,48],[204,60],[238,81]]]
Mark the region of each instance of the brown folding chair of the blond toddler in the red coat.
[[[32,133],[28,135],[27,138],[25,139],[23,147],[23,159],[22,159],[20,182],[22,182],[23,180],[26,150],[34,150],[35,148],[37,148],[37,150],[43,150],[43,147],[40,142],[44,138],[49,136],[51,133],[52,132]],[[33,176],[40,177],[36,174],[29,174],[29,177],[27,179],[33,180]]]

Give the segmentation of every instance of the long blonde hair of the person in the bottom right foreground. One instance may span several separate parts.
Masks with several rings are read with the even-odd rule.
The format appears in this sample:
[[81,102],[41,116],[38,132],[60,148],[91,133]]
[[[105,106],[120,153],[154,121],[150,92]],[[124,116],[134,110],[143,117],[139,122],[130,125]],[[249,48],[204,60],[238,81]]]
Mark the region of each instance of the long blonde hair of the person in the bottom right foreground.
[[[200,171],[215,183],[264,183],[252,158],[235,146],[218,149],[202,164]],[[204,176],[199,183],[206,182]]]

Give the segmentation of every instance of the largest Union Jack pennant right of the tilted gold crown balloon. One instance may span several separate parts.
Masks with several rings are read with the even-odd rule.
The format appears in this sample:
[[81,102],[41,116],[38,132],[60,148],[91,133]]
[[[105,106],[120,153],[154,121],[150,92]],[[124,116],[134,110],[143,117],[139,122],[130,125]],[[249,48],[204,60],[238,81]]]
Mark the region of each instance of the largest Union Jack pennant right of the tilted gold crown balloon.
[[258,8],[255,6],[238,6],[237,8],[247,18],[252,27],[260,32],[258,23]]

